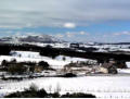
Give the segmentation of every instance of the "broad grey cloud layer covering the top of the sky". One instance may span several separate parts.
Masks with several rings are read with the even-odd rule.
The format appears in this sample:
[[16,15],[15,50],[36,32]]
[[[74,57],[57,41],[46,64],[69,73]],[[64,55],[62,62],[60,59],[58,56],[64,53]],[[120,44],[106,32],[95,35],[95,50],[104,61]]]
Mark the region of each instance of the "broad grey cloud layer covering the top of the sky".
[[0,27],[129,21],[129,0],[0,0]]

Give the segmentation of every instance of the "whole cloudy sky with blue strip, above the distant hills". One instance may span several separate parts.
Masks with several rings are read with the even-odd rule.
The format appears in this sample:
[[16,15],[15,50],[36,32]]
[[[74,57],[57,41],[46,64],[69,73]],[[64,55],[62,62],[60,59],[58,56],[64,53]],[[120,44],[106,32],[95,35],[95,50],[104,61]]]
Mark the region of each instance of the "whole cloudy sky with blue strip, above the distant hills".
[[130,41],[130,0],[0,0],[0,36]]

